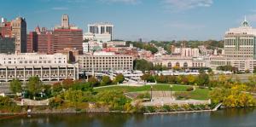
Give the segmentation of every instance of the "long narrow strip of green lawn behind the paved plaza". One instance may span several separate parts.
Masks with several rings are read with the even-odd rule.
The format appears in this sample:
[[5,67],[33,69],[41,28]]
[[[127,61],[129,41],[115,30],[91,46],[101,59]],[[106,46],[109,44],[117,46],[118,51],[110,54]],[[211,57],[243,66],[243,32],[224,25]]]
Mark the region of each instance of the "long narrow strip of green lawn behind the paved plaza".
[[[146,86],[111,86],[106,88],[99,88],[95,89],[97,92],[102,90],[121,90],[123,92],[137,92],[137,91],[149,91],[150,85]],[[183,86],[178,84],[172,85],[172,91],[186,91],[186,89],[189,88],[189,86]],[[154,91],[170,91],[170,84],[154,84],[153,90]]]

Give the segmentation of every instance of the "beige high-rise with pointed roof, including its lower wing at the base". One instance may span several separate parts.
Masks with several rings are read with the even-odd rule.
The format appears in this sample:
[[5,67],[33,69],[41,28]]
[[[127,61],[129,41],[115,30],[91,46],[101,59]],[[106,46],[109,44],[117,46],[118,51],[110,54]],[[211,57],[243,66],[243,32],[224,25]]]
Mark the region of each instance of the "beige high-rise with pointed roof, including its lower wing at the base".
[[238,71],[253,72],[256,66],[256,29],[245,19],[240,27],[230,28],[224,35],[223,55],[210,56],[212,68],[217,66],[234,66]]

